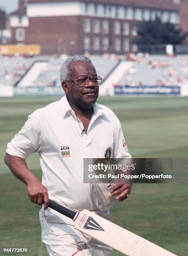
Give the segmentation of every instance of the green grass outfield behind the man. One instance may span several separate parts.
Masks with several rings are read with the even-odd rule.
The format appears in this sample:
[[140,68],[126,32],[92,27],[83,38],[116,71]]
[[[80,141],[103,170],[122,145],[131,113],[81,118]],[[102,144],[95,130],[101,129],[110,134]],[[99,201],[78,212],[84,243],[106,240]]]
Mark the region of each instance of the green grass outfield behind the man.
[[[59,99],[0,98],[0,248],[28,248],[29,253],[16,255],[40,253],[39,209],[5,166],[6,144],[30,113]],[[188,97],[102,97],[98,102],[120,119],[132,156],[188,157]],[[41,177],[37,154],[28,165]],[[111,210],[111,221],[178,256],[188,255],[188,184],[133,184],[130,198]],[[48,255],[44,245],[43,255]]]

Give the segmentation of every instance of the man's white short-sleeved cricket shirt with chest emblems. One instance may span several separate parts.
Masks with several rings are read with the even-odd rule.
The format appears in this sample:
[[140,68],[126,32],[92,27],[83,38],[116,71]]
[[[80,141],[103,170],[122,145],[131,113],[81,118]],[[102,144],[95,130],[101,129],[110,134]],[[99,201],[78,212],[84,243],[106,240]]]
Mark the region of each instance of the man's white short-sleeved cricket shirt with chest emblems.
[[[83,124],[80,121],[80,126]],[[22,130],[8,143],[7,153],[26,159],[38,152],[42,184],[50,199],[77,210],[96,210],[90,184],[83,183],[83,158],[131,157],[120,121],[109,108],[95,103],[88,133],[81,129],[66,96],[28,117]]]

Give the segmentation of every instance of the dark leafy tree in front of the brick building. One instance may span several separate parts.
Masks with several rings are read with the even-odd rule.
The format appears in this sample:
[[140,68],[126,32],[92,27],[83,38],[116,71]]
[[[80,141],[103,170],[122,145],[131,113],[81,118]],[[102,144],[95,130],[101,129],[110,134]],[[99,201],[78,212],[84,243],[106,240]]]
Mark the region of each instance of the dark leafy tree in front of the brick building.
[[133,42],[138,45],[181,44],[188,36],[181,28],[171,23],[163,23],[160,18],[140,23],[138,38]]

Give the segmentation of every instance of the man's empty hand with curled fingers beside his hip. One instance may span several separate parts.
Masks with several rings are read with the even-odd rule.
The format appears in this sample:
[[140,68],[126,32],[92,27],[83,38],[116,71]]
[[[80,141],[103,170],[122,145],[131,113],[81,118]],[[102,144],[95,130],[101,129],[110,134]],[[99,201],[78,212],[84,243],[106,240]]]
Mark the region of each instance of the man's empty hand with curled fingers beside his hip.
[[118,200],[119,202],[122,202],[128,196],[130,195],[132,188],[131,183],[116,183],[113,188],[110,190],[110,195],[109,197],[113,197],[115,195],[118,195],[115,199]]

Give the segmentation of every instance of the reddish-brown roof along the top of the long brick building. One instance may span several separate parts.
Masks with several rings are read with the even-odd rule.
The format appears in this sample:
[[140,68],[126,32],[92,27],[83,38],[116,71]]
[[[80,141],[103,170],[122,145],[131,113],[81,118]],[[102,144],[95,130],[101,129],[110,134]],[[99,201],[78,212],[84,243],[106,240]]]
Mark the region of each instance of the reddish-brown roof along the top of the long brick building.
[[[67,2],[68,0],[27,0],[28,3],[54,3]],[[69,0],[69,2],[75,0]],[[165,10],[179,10],[179,5],[175,4],[173,0],[77,0],[86,3],[104,3],[114,5],[124,5],[132,7],[147,7]]]

